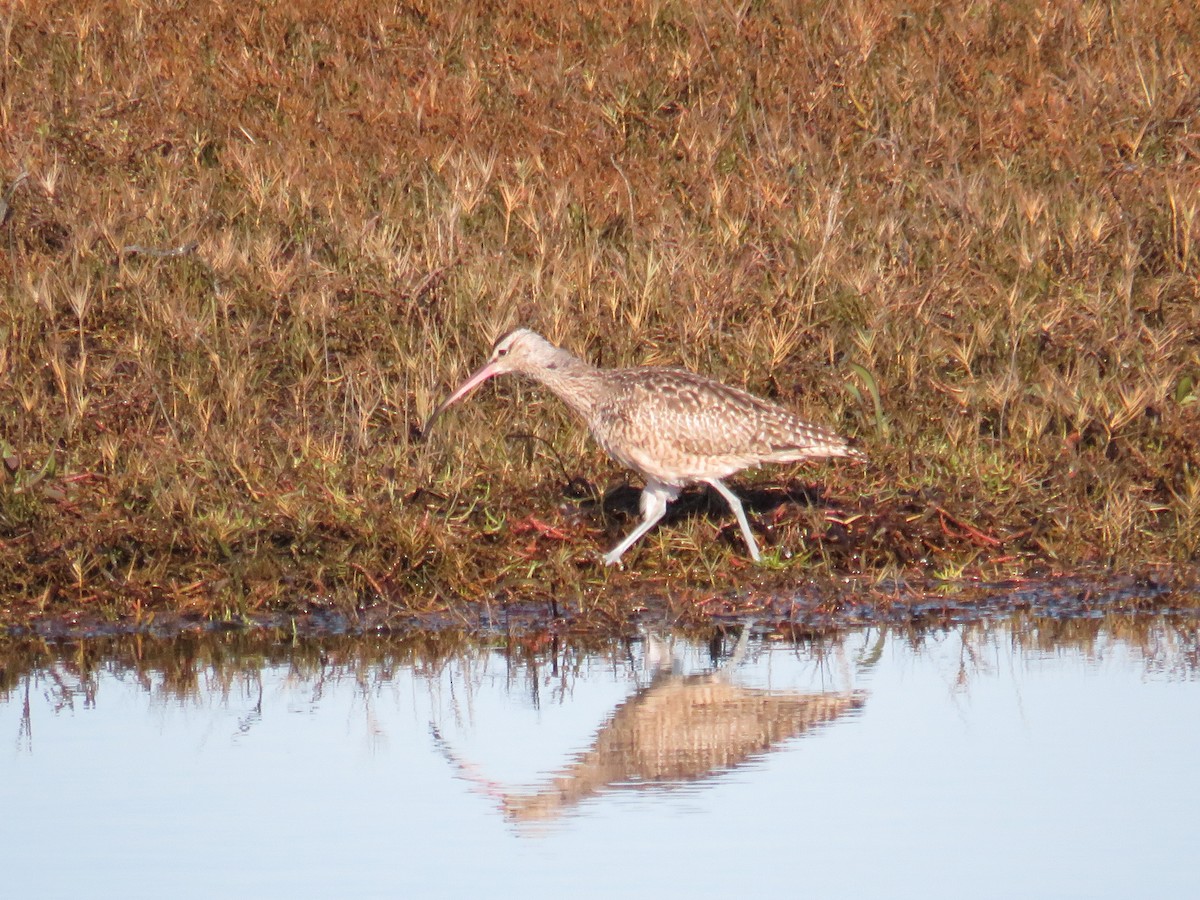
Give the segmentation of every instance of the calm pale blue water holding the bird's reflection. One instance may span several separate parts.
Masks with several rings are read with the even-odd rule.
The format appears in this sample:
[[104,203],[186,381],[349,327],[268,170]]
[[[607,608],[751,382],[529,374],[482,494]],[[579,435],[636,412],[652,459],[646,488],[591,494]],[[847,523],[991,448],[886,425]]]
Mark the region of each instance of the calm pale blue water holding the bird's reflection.
[[1200,895],[1193,625],[737,638],[8,648],[4,895]]

